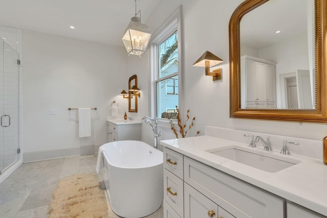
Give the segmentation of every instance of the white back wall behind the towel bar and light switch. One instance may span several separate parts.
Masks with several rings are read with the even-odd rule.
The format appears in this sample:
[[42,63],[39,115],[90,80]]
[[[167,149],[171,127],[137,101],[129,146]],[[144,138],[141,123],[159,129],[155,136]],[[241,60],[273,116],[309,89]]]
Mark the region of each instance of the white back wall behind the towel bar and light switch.
[[[128,107],[119,95],[128,84],[125,49],[26,30],[23,35],[25,161],[106,143],[111,102],[119,103],[121,115]],[[91,137],[78,137],[78,111],[68,107],[98,108],[91,111]],[[49,114],[52,108],[57,115]]]

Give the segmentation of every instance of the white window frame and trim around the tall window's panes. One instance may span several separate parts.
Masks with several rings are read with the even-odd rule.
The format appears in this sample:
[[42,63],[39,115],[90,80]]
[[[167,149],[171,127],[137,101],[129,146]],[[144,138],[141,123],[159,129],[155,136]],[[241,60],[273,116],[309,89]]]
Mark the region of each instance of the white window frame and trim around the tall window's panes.
[[[183,81],[183,60],[182,60],[182,27],[181,27],[181,6],[170,16],[170,18],[162,25],[155,34],[152,36],[150,46],[150,104],[149,111],[151,117],[157,115],[157,82],[170,78],[172,76],[178,76],[178,109],[183,111],[183,94],[182,94],[182,81]],[[173,33],[177,31],[178,37],[178,71],[164,78],[158,78],[158,45],[169,38]],[[167,91],[166,91],[167,93]],[[174,94],[176,95],[176,94]],[[170,123],[169,119],[158,117],[158,122]],[[173,123],[177,124],[177,119],[173,119]],[[165,126],[164,126],[165,127]],[[170,128],[170,125],[167,126]]]

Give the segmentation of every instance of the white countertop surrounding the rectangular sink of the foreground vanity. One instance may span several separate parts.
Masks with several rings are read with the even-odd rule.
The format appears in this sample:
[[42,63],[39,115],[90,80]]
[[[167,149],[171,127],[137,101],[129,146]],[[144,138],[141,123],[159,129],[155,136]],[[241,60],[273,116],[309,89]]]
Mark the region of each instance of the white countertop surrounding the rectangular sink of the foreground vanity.
[[160,144],[327,216],[327,165],[324,165],[322,160],[299,155],[286,156],[279,154],[279,151],[268,152],[263,151],[262,148],[250,148],[263,154],[278,155],[281,159],[287,157],[301,161],[281,171],[269,173],[206,151],[226,146],[249,148],[245,143],[212,136],[197,136],[161,140]]

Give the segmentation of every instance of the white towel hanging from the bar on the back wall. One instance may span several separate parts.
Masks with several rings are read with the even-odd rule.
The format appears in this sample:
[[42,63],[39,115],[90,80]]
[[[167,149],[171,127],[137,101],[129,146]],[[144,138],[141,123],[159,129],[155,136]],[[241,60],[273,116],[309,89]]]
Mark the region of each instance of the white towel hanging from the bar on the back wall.
[[91,136],[91,109],[79,108],[78,109],[78,134],[79,137]]

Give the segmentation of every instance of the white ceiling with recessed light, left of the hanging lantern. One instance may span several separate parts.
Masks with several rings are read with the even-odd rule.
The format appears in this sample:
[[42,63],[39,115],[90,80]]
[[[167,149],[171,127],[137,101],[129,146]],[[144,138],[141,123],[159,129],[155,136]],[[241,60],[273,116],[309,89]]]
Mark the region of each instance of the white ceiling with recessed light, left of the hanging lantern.
[[[142,23],[159,2],[137,0]],[[8,0],[1,2],[0,25],[124,46],[123,32],[134,14],[134,0]]]

